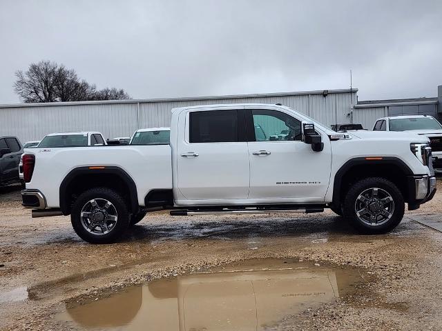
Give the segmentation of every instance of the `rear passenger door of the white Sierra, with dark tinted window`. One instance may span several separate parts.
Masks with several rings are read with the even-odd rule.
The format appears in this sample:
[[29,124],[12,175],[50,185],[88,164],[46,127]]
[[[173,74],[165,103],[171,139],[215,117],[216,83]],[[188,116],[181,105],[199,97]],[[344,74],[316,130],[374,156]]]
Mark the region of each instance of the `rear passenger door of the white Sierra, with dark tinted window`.
[[249,152],[244,110],[238,106],[197,108],[182,112],[179,121],[185,123],[180,125],[185,132],[178,134],[177,188],[184,200],[210,204],[247,199]]

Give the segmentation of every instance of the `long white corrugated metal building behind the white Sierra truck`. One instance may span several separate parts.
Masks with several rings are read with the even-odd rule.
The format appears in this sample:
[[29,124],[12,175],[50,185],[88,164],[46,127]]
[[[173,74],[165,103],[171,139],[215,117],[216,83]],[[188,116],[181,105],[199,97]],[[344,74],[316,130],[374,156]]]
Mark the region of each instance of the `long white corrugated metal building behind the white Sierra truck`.
[[15,135],[22,142],[39,140],[52,132],[69,131],[99,131],[111,139],[129,137],[138,128],[169,126],[172,108],[216,103],[282,103],[330,126],[351,121],[357,91],[0,105],[0,135]]

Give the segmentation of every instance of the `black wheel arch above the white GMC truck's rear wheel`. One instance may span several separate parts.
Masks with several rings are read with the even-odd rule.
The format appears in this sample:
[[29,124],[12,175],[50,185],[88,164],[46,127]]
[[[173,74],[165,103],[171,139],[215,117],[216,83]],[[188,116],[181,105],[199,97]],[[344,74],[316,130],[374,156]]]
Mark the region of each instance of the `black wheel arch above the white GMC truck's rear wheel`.
[[126,200],[130,212],[138,210],[137,186],[135,181],[122,168],[115,166],[84,166],[71,170],[59,188],[60,210],[70,214],[75,195],[95,187],[116,190]]

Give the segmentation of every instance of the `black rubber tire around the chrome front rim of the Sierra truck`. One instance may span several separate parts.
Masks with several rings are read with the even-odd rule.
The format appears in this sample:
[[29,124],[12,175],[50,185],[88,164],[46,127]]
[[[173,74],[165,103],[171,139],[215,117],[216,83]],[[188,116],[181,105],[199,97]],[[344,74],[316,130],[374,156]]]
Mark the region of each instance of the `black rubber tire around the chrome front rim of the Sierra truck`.
[[[383,209],[388,209],[387,214],[390,214],[390,219],[385,217],[386,220],[383,221],[384,223],[380,221],[378,224],[376,224],[376,219],[374,224],[369,224],[367,221],[363,221],[361,217],[358,217],[358,214],[356,214],[356,203],[361,203],[359,202],[361,200],[358,200],[358,202],[356,200],[358,197],[360,197],[360,194],[367,192],[367,190],[376,190],[376,192],[378,192],[379,189],[381,189],[383,194],[386,193],[390,195],[391,199],[388,198],[390,202],[387,202],[387,208],[385,208],[385,205],[383,205]],[[378,193],[376,193],[376,195],[377,194]],[[391,201],[393,203],[392,205]],[[367,210],[369,210],[369,208],[367,208]],[[381,234],[393,230],[399,223],[401,223],[404,211],[405,202],[403,200],[401,191],[396,185],[394,185],[394,183],[382,177],[369,177],[354,183],[354,185],[352,185],[352,187],[348,190],[343,203],[343,214],[345,219],[351,223],[356,230],[365,234]],[[365,217],[369,217],[367,215],[369,214],[365,214]],[[379,217],[382,218],[382,216]]]

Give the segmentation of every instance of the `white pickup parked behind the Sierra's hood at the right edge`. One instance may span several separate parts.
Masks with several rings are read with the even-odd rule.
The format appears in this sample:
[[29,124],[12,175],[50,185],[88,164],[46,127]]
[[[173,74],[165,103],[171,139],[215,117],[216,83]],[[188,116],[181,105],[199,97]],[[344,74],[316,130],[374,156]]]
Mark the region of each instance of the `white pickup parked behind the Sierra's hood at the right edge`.
[[382,117],[376,120],[374,131],[412,132],[430,139],[434,170],[442,172],[442,125],[429,115]]

